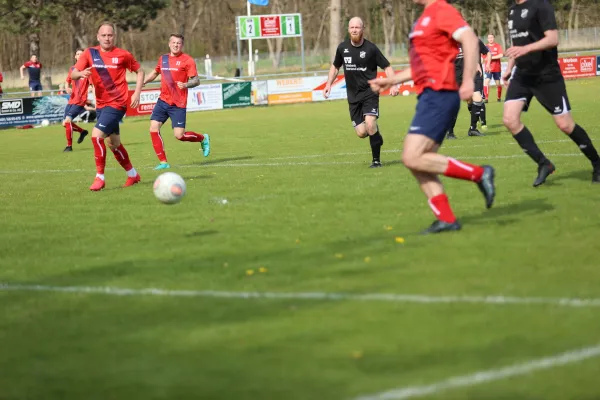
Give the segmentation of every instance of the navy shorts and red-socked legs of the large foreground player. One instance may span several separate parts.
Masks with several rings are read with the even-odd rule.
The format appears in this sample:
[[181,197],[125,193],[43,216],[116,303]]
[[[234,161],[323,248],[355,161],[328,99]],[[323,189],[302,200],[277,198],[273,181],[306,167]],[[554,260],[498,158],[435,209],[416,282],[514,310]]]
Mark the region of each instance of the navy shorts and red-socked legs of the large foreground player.
[[427,233],[460,229],[438,175],[476,182],[484,194],[486,206],[491,207],[494,201],[492,167],[468,164],[437,153],[459,105],[455,92],[426,89],[419,98],[416,115],[404,140],[402,162],[419,181],[438,219]]

